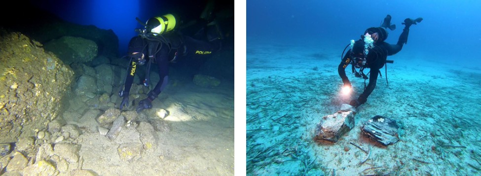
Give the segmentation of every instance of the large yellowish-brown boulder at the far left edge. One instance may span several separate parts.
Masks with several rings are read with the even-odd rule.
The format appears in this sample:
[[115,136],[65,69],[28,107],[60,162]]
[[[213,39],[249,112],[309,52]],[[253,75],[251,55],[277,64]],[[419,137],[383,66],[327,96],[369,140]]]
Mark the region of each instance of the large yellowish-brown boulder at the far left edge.
[[0,143],[35,136],[62,112],[74,71],[42,45],[0,28]]

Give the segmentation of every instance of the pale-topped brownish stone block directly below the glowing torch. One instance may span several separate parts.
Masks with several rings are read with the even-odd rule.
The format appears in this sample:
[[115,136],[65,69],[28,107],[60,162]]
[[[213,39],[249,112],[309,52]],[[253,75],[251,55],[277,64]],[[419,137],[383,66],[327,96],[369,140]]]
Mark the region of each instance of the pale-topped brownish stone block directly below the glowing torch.
[[337,111],[331,115],[322,117],[317,124],[315,137],[316,141],[336,142],[342,135],[354,127],[353,111]]

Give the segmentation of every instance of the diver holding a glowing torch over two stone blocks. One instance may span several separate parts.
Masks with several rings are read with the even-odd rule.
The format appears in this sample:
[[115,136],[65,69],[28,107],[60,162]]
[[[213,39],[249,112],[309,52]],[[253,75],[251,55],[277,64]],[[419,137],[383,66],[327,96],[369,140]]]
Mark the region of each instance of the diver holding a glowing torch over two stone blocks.
[[[388,15],[384,20],[384,24],[381,26],[394,30],[395,26],[390,26],[390,21],[391,16]],[[369,84],[365,87],[364,92],[359,98],[352,100],[349,105],[358,107],[366,103],[369,95],[376,87],[377,76],[380,74],[379,69],[381,69],[386,63],[387,56],[394,55],[401,51],[403,45],[407,43],[409,27],[416,24],[416,22],[419,23],[421,21],[422,18],[417,18],[415,20],[410,18],[405,19],[403,23],[405,28],[403,33],[399,36],[397,44],[389,44],[384,41],[387,38],[387,32],[382,27],[369,28],[364,32],[364,35],[361,35],[361,39],[357,41],[351,40],[351,49],[347,51],[337,68],[339,76],[344,83],[343,89],[351,89],[351,83],[344,71],[349,64],[352,64],[352,71],[356,74],[356,77],[363,77],[365,80],[369,79]],[[360,69],[360,72],[355,70],[355,68]],[[365,68],[370,68],[369,78],[363,72]]]

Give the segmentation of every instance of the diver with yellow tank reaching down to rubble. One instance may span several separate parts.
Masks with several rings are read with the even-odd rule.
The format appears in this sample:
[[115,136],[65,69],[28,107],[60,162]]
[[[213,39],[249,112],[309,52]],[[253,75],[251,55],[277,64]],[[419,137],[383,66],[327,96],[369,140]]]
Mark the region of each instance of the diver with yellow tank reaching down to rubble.
[[216,21],[207,23],[206,27],[201,30],[202,33],[198,33],[207,35],[203,40],[182,35],[179,31],[174,30],[175,24],[175,17],[167,14],[150,18],[145,24],[145,29],[136,30],[140,34],[129,42],[130,64],[124,82],[125,89],[119,92],[119,96],[123,97],[119,106],[120,110],[129,106],[129,92],[138,66],[147,64],[144,85],[148,86],[149,83],[150,64],[157,65],[160,77],[155,88],[148,92],[147,98],[139,102],[136,110],[140,112],[143,109],[151,108],[152,101],[167,85],[169,63],[175,63],[180,58],[191,59],[192,57],[212,55],[221,49],[222,35]]

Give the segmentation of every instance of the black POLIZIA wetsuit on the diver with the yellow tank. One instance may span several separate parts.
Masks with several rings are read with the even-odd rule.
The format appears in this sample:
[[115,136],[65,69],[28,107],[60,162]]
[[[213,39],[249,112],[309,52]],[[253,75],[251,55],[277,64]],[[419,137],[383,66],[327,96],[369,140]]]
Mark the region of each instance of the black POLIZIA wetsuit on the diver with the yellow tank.
[[[147,42],[144,55],[146,56],[146,59],[148,58],[147,62],[152,62],[152,64],[157,65],[160,77],[160,80],[157,85],[155,85],[155,88],[150,90],[148,93],[148,99],[150,101],[153,101],[155,98],[157,98],[157,96],[164,90],[168,83],[169,62],[175,62],[183,58],[191,59],[192,57],[198,57],[202,55],[212,55],[221,47],[220,40],[208,42],[194,39],[192,37],[175,32],[156,37],[147,37],[145,40]],[[174,53],[177,54],[174,55]],[[175,57],[175,61],[173,61],[173,57]],[[135,59],[130,61],[129,68],[127,70],[127,77],[125,79],[124,92],[130,92],[136,72],[135,70],[138,67],[137,64],[137,60]]]

